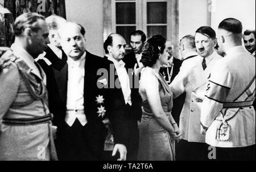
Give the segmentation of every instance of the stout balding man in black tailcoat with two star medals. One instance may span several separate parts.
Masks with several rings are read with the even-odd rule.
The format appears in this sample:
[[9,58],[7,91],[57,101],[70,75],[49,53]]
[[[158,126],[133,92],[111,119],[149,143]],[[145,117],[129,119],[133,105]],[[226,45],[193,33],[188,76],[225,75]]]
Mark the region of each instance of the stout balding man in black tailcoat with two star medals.
[[61,70],[54,70],[59,112],[53,115],[59,160],[103,160],[107,130],[102,122],[104,114],[97,113],[101,107],[98,102],[102,102],[97,64],[102,58],[86,51],[83,34],[84,29],[76,23],[65,23],[59,29],[61,47],[68,57]]

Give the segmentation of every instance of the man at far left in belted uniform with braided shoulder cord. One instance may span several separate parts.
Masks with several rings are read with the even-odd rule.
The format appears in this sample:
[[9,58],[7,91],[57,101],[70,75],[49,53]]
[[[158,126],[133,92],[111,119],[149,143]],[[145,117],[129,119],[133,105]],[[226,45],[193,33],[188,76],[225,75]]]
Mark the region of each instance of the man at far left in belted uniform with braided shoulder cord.
[[49,43],[44,16],[14,23],[15,42],[0,59],[0,160],[57,160],[46,76],[34,59]]

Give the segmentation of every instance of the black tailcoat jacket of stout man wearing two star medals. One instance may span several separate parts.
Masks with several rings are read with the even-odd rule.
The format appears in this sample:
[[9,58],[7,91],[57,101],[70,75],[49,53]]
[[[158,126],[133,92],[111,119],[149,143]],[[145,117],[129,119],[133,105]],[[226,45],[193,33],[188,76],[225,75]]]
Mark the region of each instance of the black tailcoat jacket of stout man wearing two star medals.
[[[51,61],[51,58],[49,57]],[[97,70],[98,62],[101,57],[90,54],[86,51],[85,57],[85,76],[84,76],[84,113],[88,123],[86,125],[89,139],[86,139],[90,149],[96,154],[103,151],[104,141],[107,134],[106,127],[102,123],[102,118],[98,117],[97,111],[100,106],[96,102],[96,96],[99,94],[97,88]],[[39,62],[43,63],[43,62]],[[57,63],[57,62],[56,62]],[[57,137],[61,128],[65,124],[65,114],[67,110],[67,81],[68,81],[68,64],[67,62],[51,66],[42,65],[49,78],[47,88],[49,92],[49,110],[53,113],[53,124],[58,127]]]

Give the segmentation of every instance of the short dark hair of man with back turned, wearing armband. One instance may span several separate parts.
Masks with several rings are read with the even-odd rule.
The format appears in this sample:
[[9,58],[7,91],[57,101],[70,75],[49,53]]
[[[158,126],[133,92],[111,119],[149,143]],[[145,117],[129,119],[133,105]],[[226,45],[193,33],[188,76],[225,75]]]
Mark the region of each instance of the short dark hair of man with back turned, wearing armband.
[[221,23],[218,25],[218,28],[236,34],[242,33],[243,29],[241,21],[234,18],[227,18],[222,20]]

